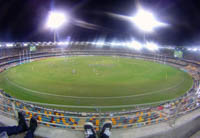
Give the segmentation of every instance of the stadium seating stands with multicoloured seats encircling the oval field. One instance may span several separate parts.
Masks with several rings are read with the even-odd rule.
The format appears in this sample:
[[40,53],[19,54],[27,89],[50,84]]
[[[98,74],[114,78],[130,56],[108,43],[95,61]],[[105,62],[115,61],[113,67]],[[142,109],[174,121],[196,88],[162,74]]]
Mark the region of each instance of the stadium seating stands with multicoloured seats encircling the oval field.
[[[140,128],[147,125],[155,125],[160,122],[172,120],[194,111],[200,105],[199,97],[199,69],[200,59],[191,59],[191,53],[185,51],[183,59],[173,57],[173,49],[161,49],[156,54],[150,51],[137,52],[120,48],[110,50],[94,48],[92,44],[81,45],[82,43],[71,43],[67,47],[58,46],[55,43],[36,44],[36,51],[29,51],[29,47],[21,45],[20,47],[1,47],[0,49],[0,72],[7,70],[12,66],[22,63],[28,63],[33,60],[57,56],[79,56],[79,55],[103,55],[103,56],[121,56],[136,59],[145,59],[155,61],[160,64],[168,64],[187,71],[193,78],[192,88],[184,95],[167,101],[160,101],[149,104],[138,104],[127,106],[128,110],[102,112],[101,108],[113,107],[75,107],[69,108],[94,108],[96,112],[66,111],[53,108],[52,105],[42,103],[23,101],[11,97],[6,91],[0,91],[0,113],[15,118],[14,112],[23,111],[26,119],[33,116],[37,118],[42,126],[69,128],[74,130],[83,130],[85,122],[92,122],[98,131],[106,120],[111,120],[113,128]],[[85,43],[84,43],[85,44]],[[55,106],[56,107],[56,106]],[[13,112],[14,111],[14,112]]]

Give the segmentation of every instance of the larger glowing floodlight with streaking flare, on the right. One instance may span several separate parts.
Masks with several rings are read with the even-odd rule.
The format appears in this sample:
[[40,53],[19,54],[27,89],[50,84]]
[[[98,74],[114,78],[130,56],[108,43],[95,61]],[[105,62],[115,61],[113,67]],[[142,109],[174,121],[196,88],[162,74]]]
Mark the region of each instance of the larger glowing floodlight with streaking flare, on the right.
[[139,9],[138,13],[132,18],[133,23],[144,32],[153,32],[156,27],[166,26],[156,20],[151,12]]

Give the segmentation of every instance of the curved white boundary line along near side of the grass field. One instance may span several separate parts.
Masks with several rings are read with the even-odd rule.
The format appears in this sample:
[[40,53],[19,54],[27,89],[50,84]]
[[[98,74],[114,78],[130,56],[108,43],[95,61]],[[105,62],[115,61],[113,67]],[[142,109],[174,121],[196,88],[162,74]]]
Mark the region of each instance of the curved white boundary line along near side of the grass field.
[[11,85],[13,85],[15,87],[18,87],[18,88],[21,88],[23,90],[32,92],[32,93],[37,93],[37,94],[40,94],[40,95],[56,96],[56,97],[62,97],[62,98],[63,97],[64,98],[74,98],[74,99],[120,99],[120,98],[140,97],[140,96],[152,95],[152,94],[155,94],[155,93],[163,93],[163,92],[165,92],[167,90],[171,90],[171,89],[177,88],[179,85],[181,85],[185,81],[185,79],[183,79],[178,84],[176,84],[176,85],[174,85],[172,87],[168,87],[166,89],[162,89],[162,90],[158,90],[158,91],[154,91],[154,92],[150,92],[150,93],[144,93],[144,94],[129,95],[129,96],[117,96],[117,97],[78,97],[78,96],[66,96],[66,95],[58,95],[58,94],[49,94],[49,93],[46,93],[46,92],[31,90],[31,89],[25,88],[23,86],[20,86],[19,84],[16,84],[16,83],[10,81],[7,77],[4,77],[4,78]]

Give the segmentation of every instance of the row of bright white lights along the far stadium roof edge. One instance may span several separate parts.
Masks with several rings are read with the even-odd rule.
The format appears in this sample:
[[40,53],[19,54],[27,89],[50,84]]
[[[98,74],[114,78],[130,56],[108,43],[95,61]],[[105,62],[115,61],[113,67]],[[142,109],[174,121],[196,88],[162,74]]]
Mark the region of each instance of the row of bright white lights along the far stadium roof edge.
[[[172,45],[165,45],[165,46],[159,46],[155,42],[146,42],[141,43],[136,40],[132,41],[112,41],[112,42],[106,42],[104,40],[99,41],[60,41],[60,42],[0,42],[0,48],[12,48],[12,47],[27,47],[30,45],[34,46],[68,46],[68,45],[91,45],[95,47],[103,47],[103,46],[109,46],[111,48],[128,48],[131,50],[149,50],[149,51],[157,51],[159,49],[169,49],[169,50],[175,50],[177,47]],[[195,47],[183,47],[184,50],[191,51],[191,52],[200,52],[200,48],[198,46]]]

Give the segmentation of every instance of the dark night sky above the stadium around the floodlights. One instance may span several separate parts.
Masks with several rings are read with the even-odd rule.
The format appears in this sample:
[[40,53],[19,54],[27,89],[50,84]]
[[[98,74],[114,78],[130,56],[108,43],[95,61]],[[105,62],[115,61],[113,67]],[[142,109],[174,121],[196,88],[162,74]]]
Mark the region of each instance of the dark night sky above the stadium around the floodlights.
[[[53,32],[44,29],[47,14],[61,9],[70,22],[58,31],[58,39],[87,41],[106,38],[108,41],[142,41],[143,33],[131,22],[107,13],[131,16],[138,5],[154,12],[160,21],[170,26],[146,34],[146,39],[161,44],[200,44],[200,0],[0,0],[0,41],[51,41]],[[99,26],[83,28],[81,20]]]

